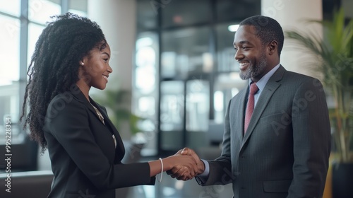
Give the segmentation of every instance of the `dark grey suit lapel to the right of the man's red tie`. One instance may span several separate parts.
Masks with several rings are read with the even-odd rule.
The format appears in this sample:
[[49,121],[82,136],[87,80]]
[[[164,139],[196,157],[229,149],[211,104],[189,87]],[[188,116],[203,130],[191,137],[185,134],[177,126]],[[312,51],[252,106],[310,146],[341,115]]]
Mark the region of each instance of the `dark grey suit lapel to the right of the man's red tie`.
[[[273,76],[271,76],[271,78],[268,80],[268,83],[266,83],[265,88],[263,88],[260,98],[258,98],[258,102],[256,103],[256,106],[253,109],[253,116],[251,117],[248,130],[245,133],[243,144],[241,146],[244,146],[246,141],[251,136],[253,129],[255,129],[256,124],[258,123],[258,120],[260,120],[261,115],[263,114],[263,111],[266,109],[268,103],[270,102],[270,99],[273,93],[275,93],[277,88],[280,87],[280,83],[278,83],[278,81],[282,79],[283,74],[285,74],[285,71],[286,69],[282,65],[280,65],[280,67],[277,69],[275,74],[273,74]],[[244,111],[242,113],[244,114]],[[244,122],[243,122],[243,129],[244,129]]]

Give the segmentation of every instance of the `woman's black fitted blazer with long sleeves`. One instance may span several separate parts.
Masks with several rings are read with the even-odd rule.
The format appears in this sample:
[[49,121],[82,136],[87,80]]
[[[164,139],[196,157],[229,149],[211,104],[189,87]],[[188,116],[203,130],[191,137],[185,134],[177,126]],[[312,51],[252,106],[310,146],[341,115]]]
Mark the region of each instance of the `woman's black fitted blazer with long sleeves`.
[[[100,121],[92,105],[104,117]],[[153,185],[148,163],[122,164],[125,149],[104,107],[78,86],[56,95],[44,120],[54,180],[48,197],[115,197],[115,188]],[[116,137],[116,148],[112,134]]]

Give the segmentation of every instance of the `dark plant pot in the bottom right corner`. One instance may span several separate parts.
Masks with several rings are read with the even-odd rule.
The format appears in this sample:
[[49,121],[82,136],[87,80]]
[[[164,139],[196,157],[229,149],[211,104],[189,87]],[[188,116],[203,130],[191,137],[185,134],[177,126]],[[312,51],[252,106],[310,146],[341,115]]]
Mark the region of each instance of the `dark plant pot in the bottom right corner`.
[[333,163],[333,198],[353,197],[353,163]]

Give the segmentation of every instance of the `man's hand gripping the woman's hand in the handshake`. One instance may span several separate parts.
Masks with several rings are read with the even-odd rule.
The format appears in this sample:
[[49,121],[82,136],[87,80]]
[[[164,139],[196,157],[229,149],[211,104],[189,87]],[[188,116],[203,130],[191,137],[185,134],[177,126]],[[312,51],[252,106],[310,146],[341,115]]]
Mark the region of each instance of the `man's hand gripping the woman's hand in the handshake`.
[[167,171],[167,174],[170,175],[173,178],[177,178],[177,180],[190,180],[194,176],[199,175],[205,171],[205,164],[201,159],[198,157],[198,155],[193,151],[191,148],[184,148],[182,150],[179,150],[176,155],[188,155],[192,156],[195,161],[196,161],[196,166],[197,166],[197,171],[195,175],[190,174],[190,170],[183,165],[175,165],[171,170]]

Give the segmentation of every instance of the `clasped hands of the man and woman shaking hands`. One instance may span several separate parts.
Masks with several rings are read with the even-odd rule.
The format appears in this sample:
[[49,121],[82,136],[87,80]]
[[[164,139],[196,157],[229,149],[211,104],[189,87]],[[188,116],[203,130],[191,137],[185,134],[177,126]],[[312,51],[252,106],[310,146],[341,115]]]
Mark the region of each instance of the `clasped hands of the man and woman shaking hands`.
[[205,170],[205,164],[191,148],[181,149],[170,158],[175,158],[176,162],[167,174],[177,180],[191,180]]

